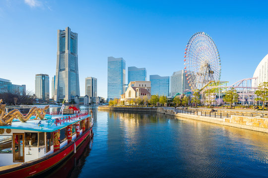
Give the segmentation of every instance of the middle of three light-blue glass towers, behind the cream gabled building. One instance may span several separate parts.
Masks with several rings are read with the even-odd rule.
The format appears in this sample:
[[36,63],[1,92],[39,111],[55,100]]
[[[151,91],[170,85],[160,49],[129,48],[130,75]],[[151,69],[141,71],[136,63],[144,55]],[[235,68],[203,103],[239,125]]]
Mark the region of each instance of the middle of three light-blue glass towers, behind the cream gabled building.
[[134,81],[146,81],[147,80],[147,71],[145,68],[128,68],[128,84]]

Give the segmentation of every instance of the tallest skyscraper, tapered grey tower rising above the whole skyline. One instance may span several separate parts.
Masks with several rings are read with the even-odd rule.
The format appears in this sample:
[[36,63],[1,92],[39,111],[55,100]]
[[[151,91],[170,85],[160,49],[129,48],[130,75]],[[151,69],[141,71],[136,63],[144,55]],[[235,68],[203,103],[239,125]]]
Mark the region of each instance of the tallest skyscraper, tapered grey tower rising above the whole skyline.
[[58,30],[54,100],[70,102],[80,96],[77,56],[78,34],[67,27]]

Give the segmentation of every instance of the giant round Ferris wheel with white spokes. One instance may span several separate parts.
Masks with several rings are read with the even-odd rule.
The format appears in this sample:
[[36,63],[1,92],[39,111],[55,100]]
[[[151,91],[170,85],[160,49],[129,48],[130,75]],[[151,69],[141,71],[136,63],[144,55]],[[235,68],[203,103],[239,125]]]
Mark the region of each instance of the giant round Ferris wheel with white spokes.
[[211,81],[220,80],[221,63],[217,46],[204,33],[195,33],[184,52],[186,79],[192,90],[202,89]]

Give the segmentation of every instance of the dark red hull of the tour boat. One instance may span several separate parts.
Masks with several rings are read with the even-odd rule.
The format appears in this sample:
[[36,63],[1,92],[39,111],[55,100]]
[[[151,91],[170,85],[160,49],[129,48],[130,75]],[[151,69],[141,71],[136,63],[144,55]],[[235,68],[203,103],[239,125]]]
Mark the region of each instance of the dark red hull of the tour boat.
[[24,164],[17,164],[11,166],[5,166],[6,169],[0,171],[0,178],[14,178],[14,177],[32,177],[38,174],[41,174],[56,165],[61,161],[66,159],[70,154],[73,153],[74,143],[76,147],[80,146],[82,142],[88,137],[92,136],[92,127],[81,134],[78,138],[67,144],[62,149],[42,158],[39,158],[35,161],[26,162]]

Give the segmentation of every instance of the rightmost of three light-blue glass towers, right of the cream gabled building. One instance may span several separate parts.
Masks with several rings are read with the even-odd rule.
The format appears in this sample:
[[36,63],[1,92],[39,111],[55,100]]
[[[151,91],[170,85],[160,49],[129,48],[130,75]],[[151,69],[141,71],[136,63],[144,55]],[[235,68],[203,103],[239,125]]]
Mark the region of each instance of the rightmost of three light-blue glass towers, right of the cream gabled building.
[[151,95],[169,96],[169,76],[150,75]]

